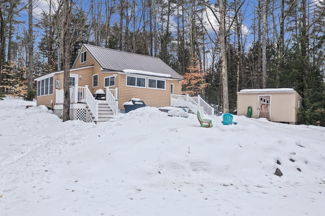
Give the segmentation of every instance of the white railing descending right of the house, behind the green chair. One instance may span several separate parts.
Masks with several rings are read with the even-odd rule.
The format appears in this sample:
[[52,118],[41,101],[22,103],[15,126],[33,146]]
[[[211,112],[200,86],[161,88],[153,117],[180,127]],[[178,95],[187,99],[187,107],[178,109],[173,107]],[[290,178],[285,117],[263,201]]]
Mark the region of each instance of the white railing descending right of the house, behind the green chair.
[[171,106],[189,107],[194,113],[200,111],[211,117],[214,116],[214,108],[205,102],[200,95],[198,97],[190,97],[188,95],[171,95]]

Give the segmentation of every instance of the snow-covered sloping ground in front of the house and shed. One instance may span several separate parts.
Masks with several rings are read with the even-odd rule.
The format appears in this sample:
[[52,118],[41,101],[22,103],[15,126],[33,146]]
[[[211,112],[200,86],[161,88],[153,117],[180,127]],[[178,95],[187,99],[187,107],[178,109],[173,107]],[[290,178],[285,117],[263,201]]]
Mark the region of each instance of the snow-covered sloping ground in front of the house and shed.
[[324,127],[221,120],[144,107],[62,122],[5,98],[0,215],[324,215]]

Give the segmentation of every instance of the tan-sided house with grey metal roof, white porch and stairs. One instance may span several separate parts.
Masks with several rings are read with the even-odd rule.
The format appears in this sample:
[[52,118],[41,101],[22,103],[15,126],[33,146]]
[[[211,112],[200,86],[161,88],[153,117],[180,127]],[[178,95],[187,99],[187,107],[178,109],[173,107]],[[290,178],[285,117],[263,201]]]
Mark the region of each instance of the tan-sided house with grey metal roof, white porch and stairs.
[[[123,104],[132,98],[140,98],[148,106],[178,105],[202,110],[199,104],[205,101],[200,96],[181,95],[182,80],[157,57],[84,44],[70,69],[70,119],[107,121],[112,115],[123,113]],[[46,105],[62,116],[63,71],[43,75],[35,81],[37,105]],[[104,95],[94,98],[99,91]],[[212,108],[209,109],[203,111],[213,115]]]

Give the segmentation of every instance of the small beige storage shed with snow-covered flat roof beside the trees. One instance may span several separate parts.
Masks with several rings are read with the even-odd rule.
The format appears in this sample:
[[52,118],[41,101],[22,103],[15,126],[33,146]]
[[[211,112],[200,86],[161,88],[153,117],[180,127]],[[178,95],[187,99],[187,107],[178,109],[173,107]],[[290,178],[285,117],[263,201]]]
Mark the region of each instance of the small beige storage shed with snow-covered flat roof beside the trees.
[[291,88],[243,89],[237,92],[237,115],[297,124],[302,97]]

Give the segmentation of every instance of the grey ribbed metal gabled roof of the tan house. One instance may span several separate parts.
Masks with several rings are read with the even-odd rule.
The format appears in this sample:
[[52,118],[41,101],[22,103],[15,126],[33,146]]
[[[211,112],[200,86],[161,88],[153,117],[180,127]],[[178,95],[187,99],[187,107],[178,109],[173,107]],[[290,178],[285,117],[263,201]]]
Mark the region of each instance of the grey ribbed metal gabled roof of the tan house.
[[175,70],[157,57],[118,51],[88,44],[84,44],[83,46],[103,70],[140,70],[156,74],[170,75],[170,78],[183,80]]

